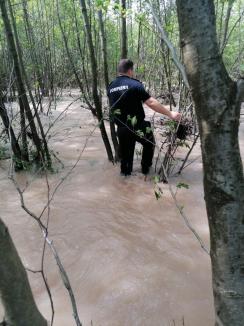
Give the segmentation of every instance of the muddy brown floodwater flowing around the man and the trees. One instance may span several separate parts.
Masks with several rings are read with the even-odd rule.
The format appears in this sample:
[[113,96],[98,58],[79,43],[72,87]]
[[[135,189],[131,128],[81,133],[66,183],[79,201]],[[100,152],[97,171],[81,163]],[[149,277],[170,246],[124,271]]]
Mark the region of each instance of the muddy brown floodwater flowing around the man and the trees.
[[[64,97],[58,102],[52,121],[71,100]],[[49,122],[47,117],[43,120]],[[65,168],[55,164],[58,171],[49,175],[51,189],[76,162],[95,124],[78,102],[55,124],[50,145]],[[240,138],[243,150],[243,126]],[[198,144],[191,160],[199,154]],[[51,203],[49,237],[69,275],[83,326],[90,326],[91,321],[94,326],[178,326],[183,319],[186,326],[212,326],[210,259],[179,215],[167,185],[161,185],[163,196],[157,201],[153,182],[143,180],[139,166],[135,158],[137,176],[120,177],[119,167],[107,162],[96,130]],[[42,235],[20,208],[17,192],[7,177],[8,162],[0,162],[0,167],[1,217],[24,265],[38,270]],[[47,202],[45,177],[21,173],[16,178],[22,187],[28,181],[26,205],[39,214]],[[201,159],[171,182],[190,185],[188,190],[178,191],[178,200],[209,246]],[[45,272],[54,299],[54,325],[75,325],[68,294],[48,248]],[[50,320],[42,279],[39,274],[28,275],[38,307]]]

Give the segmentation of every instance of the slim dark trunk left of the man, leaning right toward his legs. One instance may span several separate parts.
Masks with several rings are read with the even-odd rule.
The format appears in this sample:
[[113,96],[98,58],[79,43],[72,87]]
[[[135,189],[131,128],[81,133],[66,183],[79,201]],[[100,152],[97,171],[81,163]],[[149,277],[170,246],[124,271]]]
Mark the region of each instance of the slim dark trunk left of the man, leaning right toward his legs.
[[102,139],[107,151],[108,159],[109,161],[113,162],[113,152],[112,148],[109,142],[109,138],[105,129],[104,121],[103,121],[103,112],[102,112],[102,103],[99,98],[98,94],[98,83],[97,83],[97,60],[95,57],[95,50],[94,50],[94,45],[93,45],[93,40],[92,40],[92,32],[91,32],[91,25],[89,22],[88,14],[87,14],[87,9],[86,9],[86,1],[85,0],[80,0],[81,4],[81,10],[85,22],[85,30],[86,30],[86,35],[87,35],[87,42],[88,42],[88,48],[89,48],[89,54],[90,54],[90,61],[91,61],[91,69],[92,69],[92,95],[93,95],[93,100],[95,104],[95,108],[97,111],[97,118],[99,121],[99,127],[101,130],[101,135]]

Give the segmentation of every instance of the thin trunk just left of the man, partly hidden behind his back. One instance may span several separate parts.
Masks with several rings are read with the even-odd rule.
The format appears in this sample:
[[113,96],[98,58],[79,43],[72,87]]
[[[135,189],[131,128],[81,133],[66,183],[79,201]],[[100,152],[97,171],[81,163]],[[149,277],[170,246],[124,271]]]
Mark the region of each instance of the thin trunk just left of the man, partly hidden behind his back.
[[[103,13],[102,10],[98,11],[98,20],[99,20],[99,26],[100,26],[100,34],[101,34],[101,43],[102,43],[102,52],[103,52],[103,68],[104,68],[104,80],[105,80],[105,87],[106,90],[108,90],[109,86],[109,77],[108,77],[108,56],[107,56],[107,40],[106,40],[106,33],[104,28],[104,22],[103,22]],[[114,145],[114,152],[115,152],[115,162],[119,161],[119,143],[116,136],[115,131],[115,125],[113,120],[109,119],[110,123],[110,132],[111,132],[111,138]]]

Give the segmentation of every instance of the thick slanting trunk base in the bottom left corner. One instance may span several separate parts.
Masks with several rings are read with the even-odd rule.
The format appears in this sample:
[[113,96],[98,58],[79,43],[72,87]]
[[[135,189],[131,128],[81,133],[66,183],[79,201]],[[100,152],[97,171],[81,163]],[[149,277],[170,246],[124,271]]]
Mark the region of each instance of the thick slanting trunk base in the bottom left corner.
[[0,296],[6,325],[47,326],[35,304],[24,266],[1,219],[0,261]]

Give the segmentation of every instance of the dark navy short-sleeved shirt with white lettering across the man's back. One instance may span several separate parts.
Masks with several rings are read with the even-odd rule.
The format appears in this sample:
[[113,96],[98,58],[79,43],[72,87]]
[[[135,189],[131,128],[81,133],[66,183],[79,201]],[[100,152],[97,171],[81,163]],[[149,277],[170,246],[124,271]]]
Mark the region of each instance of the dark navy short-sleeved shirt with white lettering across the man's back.
[[139,126],[145,118],[142,103],[150,98],[142,83],[128,76],[118,76],[108,88],[110,113],[119,126]]

